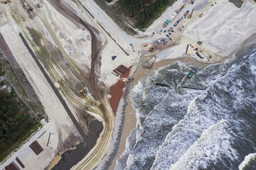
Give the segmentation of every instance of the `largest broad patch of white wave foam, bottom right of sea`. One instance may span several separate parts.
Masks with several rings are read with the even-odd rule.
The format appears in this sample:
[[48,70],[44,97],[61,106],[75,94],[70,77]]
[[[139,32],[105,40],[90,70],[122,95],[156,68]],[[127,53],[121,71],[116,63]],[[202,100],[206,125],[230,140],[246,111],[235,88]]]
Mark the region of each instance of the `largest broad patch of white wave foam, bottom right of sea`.
[[206,169],[210,163],[215,164],[223,156],[230,160],[238,159],[232,147],[233,137],[228,132],[226,120],[210,126],[185,154],[171,166],[172,169]]

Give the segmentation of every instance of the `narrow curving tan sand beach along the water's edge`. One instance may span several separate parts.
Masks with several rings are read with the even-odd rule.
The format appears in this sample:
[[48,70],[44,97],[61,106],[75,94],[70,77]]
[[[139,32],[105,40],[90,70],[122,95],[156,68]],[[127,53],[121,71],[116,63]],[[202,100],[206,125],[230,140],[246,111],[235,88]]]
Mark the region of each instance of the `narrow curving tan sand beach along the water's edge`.
[[[154,72],[156,69],[168,66],[168,65],[173,64],[174,62],[177,62],[177,61],[183,62],[184,64],[190,63],[190,64],[193,64],[193,65],[199,66],[199,67],[208,67],[208,65],[210,65],[210,64],[223,63],[226,60],[232,59],[233,55],[235,55],[235,53],[237,53],[243,47],[250,46],[253,43],[256,43],[256,34],[250,36],[250,38],[247,38],[247,40],[244,41],[243,45],[238,47],[238,49],[233,51],[230,55],[222,57],[220,60],[218,60],[217,62],[213,62],[213,63],[203,63],[203,62],[200,62],[200,61],[194,59],[193,57],[186,57],[186,54],[185,54],[181,57],[177,57],[177,58],[174,58],[174,59],[167,59],[167,60],[161,60],[159,62],[156,62],[153,65],[153,67],[151,69],[149,69],[149,71],[146,71],[146,72],[144,71],[144,68],[142,67],[142,65],[139,64],[137,70],[134,73],[131,73],[131,74],[134,74],[134,76],[133,76],[134,81],[132,81],[130,83],[129,89],[127,89],[127,93],[128,93],[127,96],[129,96],[130,91],[138,83],[139,79],[142,79],[143,77],[146,77],[146,74],[150,74],[151,72]],[[134,110],[134,108],[132,108],[132,101],[130,101],[130,99],[128,97],[127,101],[125,101],[125,102],[127,103],[127,105],[124,106],[125,107],[124,108],[124,112],[125,112],[124,113],[124,118],[125,119],[124,119],[124,126],[123,126],[122,132],[120,134],[121,135],[121,140],[119,142],[119,147],[118,147],[118,150],[117,150],[117,154],[114,156],[114,159],[113,159],[109,169],[114,169],[114,167],[116,166],[117,159],[119,159],[121,154],[124,152],[127,137],[129,137],[131,130],[136,127],[136,123],[137,123],[136,111]]]

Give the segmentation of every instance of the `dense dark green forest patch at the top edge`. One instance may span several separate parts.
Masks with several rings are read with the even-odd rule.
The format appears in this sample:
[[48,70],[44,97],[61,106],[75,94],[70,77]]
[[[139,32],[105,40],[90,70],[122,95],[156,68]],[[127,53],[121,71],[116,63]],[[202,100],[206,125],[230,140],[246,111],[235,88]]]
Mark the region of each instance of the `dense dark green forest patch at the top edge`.
[[125,14],[136,21],[138,28],[144,28],[174,1],[176,0],[120,0],[119,4]]

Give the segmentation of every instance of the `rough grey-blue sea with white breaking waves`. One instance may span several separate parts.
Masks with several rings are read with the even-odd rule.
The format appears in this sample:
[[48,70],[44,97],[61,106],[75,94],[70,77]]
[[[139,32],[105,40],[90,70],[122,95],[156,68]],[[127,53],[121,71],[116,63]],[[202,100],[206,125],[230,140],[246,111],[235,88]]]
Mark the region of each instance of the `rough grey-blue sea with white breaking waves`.
[[115,169],[255,169],[255,50],[192,79],[193,66],[182,62],[141,79],[129,96],[137,126]]

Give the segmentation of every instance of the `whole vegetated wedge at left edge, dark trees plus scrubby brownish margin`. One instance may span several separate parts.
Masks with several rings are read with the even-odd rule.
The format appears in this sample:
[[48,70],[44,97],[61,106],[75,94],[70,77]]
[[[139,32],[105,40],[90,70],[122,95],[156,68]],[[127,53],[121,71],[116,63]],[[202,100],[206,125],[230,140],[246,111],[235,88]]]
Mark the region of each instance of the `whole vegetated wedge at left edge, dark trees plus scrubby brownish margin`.
[[[4,77],[3,77],[4,76]],[[0,162],[41,126],[43,106],[21,68],[13,69],[0,53]],[[15,89],[15,90],[14,90]]]

